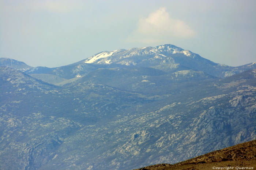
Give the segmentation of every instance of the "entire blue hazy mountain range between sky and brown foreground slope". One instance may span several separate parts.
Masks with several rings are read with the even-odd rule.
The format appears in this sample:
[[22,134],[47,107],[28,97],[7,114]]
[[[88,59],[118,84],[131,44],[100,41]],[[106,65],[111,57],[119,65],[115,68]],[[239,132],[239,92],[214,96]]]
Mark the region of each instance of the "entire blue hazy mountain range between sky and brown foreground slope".
[[0,169],[135,169],[256,139],[256,62],[166,44],[0,66]]

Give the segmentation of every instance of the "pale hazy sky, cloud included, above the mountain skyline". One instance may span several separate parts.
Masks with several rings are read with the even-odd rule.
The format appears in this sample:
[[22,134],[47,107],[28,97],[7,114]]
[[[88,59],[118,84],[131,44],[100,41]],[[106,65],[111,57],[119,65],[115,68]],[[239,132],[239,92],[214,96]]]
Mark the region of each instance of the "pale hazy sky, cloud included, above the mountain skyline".
[[0,57],[59,67],[101,51],[173,44],[256,62],[255,0],[0,0]]

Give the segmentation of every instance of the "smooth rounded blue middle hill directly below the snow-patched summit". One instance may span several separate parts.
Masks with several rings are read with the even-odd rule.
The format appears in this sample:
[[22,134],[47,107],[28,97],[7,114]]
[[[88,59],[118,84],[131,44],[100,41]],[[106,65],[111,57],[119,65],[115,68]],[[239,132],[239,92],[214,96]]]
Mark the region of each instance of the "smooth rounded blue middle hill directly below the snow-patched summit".
[[[102,68],[84,75],[72,85],[84,81],[106,84],[121,90],[138,92],[144,95],[173,94],[182,82],[197,83],[198,80],[214,79],[214,76],[200,71],[182,70],[167,74],[148,67]],[[216,79],[216,78],[215,78]],[[118,81],[117,81],[118,80]]]

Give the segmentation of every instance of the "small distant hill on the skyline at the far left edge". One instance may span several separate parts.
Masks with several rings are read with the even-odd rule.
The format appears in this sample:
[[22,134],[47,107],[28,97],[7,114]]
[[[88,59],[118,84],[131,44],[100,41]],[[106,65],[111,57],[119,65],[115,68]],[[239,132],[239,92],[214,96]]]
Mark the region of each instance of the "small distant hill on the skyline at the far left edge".
[[33,68],[31,66],[28,66],[24,62],[19,62],[17,60],[9,59],[9,58],[0,58],[0,67],[3,67],[3,66],[14,68],[20,71],[26,71]]

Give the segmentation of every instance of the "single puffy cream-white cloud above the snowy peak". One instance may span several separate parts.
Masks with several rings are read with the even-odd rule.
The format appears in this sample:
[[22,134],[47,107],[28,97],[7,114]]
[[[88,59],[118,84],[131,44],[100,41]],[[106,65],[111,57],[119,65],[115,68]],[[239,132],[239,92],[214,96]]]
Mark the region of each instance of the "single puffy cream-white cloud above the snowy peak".
[[189,38],[194,35],[195,31],[184,21],[171,18],[166,8],[159,8],[148,17],[141,18],[138,27],[127,40],[158,43],[166,38]]

